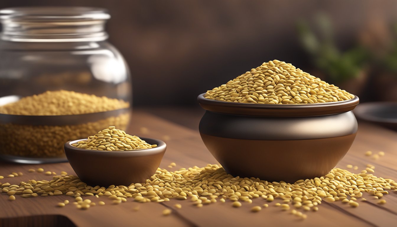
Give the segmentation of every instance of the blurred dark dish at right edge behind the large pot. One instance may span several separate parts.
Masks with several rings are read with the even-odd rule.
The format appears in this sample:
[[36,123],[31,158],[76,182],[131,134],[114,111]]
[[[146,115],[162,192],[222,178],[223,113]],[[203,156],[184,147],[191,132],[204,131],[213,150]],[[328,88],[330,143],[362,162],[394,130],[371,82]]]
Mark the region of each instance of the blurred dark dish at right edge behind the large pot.
[[354,110],[357,118],[386,128],[397,130],[397,102],[360,104]]

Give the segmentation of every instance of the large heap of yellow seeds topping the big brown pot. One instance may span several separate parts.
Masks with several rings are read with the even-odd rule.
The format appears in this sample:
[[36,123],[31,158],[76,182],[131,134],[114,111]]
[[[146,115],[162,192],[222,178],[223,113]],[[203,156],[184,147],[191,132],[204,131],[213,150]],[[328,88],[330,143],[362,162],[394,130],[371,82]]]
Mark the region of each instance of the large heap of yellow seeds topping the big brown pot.
[[236,103],[306,104],[343,101],[354,95],[292,64],[273,60],[207,91],[204,97]]

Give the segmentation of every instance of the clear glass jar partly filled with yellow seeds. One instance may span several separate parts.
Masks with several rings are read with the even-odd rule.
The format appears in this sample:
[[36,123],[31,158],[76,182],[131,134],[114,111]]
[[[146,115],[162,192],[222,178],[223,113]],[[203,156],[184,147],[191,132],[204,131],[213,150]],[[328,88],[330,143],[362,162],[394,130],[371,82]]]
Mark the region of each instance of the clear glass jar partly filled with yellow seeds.
[[[108,126],[126,130],[131,113],[131,78],[123,56],[106,41],[108,35],[104,25],[109,18],[106,10],[100,8],[0,10],[3,27],[0,34],[2,159],[19,163],[66,161],[63,145],[68,140],[87,138]],[[83,99],[70,108],[77,109],[77,114],[71,111],[57,114],[4,112],[4,105],[8,103],[48,91],[61,92],[58,93],[61,96],[65,93],[65,97],[73,92],[82,97],[89,94],[113,103],[109,108],[93,108],[95,113],[79,113],[79,108],[83,109],[82,105],[87,102]],[[52,94],[46,93],[47,96]],[[73,94],[71,97],[76,97],[76,93]],[[87,97],[85,95],[84,99]],[[40,105],[44,105],[44,109],[65,105],[57,102],[51,100]]]

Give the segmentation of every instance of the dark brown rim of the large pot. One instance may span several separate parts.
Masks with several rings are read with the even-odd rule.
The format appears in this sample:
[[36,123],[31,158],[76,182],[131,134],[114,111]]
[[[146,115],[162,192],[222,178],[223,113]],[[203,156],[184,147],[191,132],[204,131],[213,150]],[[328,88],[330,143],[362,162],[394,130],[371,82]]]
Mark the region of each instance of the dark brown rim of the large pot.
[[354,95],[353,99],[310,104],[256,104],[256,103],[235,103],[207,99],[206,93],[198,95],[197,101],[207,111],[255,115],[255,116],[316,116],[351,111],[358,105],[360,99]]

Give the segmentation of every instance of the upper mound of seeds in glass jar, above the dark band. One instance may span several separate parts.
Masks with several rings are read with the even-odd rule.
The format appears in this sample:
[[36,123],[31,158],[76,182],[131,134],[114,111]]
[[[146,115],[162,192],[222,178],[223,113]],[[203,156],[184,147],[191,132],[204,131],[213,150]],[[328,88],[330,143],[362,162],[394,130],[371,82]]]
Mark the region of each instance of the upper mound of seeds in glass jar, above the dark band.
[[98,97],[74,91],[46,91],[21,98],[15,103],[0,106],[2,114],[71,115],[97,113],[128,108],[129,103],[108,97]]

